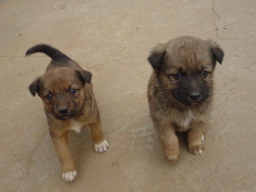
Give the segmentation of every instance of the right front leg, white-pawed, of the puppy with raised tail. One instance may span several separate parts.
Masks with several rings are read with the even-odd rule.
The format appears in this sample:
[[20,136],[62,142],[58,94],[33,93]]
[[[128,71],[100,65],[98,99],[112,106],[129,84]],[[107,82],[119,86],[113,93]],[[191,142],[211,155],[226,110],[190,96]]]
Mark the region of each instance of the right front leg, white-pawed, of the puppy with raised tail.
[[98,153],[103,153],[107,151],[108,142],[105,140],[102,128],[101,128],[101,121],[100,117],[97,118],[96,122],[89,124],[91,128],[92,140],[94,142],[94,149]]

